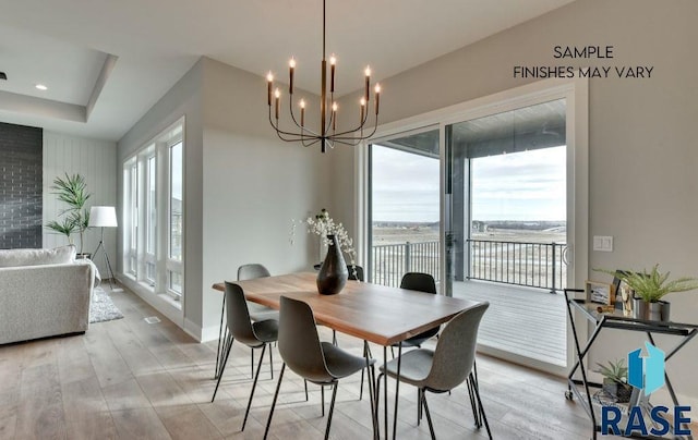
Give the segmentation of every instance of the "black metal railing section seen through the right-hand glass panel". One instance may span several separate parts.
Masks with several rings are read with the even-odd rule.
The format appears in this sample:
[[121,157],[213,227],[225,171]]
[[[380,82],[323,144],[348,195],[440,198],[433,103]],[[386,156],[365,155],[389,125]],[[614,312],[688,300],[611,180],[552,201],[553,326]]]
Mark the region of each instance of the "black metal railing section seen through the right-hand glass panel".
[[470,280],[549,289],[566,286],[565,243],[525,243],[467,240]]

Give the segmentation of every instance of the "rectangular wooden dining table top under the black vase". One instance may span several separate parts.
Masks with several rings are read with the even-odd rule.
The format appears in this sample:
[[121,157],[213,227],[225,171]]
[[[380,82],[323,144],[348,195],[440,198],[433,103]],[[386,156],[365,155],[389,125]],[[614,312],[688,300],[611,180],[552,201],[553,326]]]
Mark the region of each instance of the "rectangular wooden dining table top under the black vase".
[[[279,308],[288,296],[310,304],[318,323],[352,337],[390,345],[447,322],[474,301],[347,281],[336,295],[317,293],[316,273],[302,272],[234,281],[249,301]],[[213,289],[225,292],[225,283]]]

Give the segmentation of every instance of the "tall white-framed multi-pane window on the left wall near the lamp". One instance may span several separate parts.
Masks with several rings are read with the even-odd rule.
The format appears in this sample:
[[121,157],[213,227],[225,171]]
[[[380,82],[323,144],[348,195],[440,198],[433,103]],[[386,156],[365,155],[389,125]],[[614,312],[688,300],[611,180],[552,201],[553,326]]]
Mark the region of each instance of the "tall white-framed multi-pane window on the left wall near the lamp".
[[124,162],[125,272],[174,304],[184,294],[183,168],[183,120]]

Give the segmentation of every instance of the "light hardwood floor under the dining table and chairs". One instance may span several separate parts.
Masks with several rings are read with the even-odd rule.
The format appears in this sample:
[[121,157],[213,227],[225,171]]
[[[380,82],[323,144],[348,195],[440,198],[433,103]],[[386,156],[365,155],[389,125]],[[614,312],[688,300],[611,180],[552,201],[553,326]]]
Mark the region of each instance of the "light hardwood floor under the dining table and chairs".
[[[216,402],[216,342],[200,344],[137,296],[111,294],[124,319],[89,326],[84,335],[0,347],[0,439],[261,439],[276,386],[265,360],[244,432],[250,351],[233,344]],[[158,316],[159,323],[144,318]],[[330,332],[321,328],[321,338]],[[361,353],[361,341],[339,335]],[[373,347],[382,359],[382,347]],[[280,357],[275,349],[275,374]],[[258,353],[257,353],[258,356]],[[495,439],[588,439],[583,411],[564,398],[565,380],[491,357],[478,357],[483,404]],[[370,439],[368,398],[360,375],[340,382],[332,438]],[[393,390],[393,388],[392,388]],[[322,438],[320,391],[287,370],[270,438]],[[417,427],[417,392],[400,387],[398,439],[428,439]],[[327,400],[329,393],[327,393]],[[474,428],[467,389],[428,394],[438,439],[485,439]],[[390,398],[393,402],[393,398]],[[392,405],[390,405],[392,408]],[[390,412],[392,414],[392,412]],[[392,417],[392,415],[390,415]],[[392,418],[390,418],[392,420]]]

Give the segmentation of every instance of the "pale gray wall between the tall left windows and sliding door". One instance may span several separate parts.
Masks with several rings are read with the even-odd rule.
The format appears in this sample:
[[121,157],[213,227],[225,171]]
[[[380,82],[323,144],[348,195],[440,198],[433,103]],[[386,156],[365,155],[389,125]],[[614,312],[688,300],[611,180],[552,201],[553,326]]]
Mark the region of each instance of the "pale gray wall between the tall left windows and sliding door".
[[272,273],[308,269],[317,255],[291,222],[327,206],[330,155],[279,140],[267,121],[262,76],[202,60],[204,332],[218,337],[220,294],[210,285],[237,279],[240,265]]

